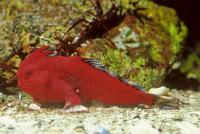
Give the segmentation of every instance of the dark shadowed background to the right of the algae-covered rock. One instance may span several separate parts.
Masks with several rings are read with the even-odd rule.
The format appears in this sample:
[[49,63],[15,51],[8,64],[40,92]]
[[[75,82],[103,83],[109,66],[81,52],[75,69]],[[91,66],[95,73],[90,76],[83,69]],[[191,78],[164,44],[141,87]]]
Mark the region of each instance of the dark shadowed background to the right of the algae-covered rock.
[[[192,1],[161,1],[155,2],[172,7],[177,11],[178,16],[188,27],[188,36],[184,45],[183,53],[177,62],[179,66],[174,69],[166,78],[168,85],[181,89],[199,90],[200,87],[200,29],[199,19],[193,19],[192,16],[200,17],[198,13],[198,3]],[[173,82],[175,81],[175,82]],[[185,84],[177,84],[183,82]]]

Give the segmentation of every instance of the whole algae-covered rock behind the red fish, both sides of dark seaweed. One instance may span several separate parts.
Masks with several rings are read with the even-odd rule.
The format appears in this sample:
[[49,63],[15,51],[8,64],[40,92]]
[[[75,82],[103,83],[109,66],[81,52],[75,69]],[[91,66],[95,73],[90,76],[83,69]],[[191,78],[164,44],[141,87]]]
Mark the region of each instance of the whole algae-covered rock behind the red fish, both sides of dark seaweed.
[[[171,70],[182,51],[187,28],[172,8],[149,0],[141,0],[135,6],[129,2],[121,1],[125,18],[119,25],[101,38],[84,42],[76,53],[99,59],[109,70],[148,90],[159,86]],[[105,14],[112,5],[102,1],[101,6]],[[94,5],[85,0],[1,1],[0,7],[2,91],[16,85],[16,69],[31,48],[44,44],[55,48],[57,38],[63,38],[75,22],[92,22],[96,14]],[[83,25],[86,24],[72,28],[70,38],[79,36]]]

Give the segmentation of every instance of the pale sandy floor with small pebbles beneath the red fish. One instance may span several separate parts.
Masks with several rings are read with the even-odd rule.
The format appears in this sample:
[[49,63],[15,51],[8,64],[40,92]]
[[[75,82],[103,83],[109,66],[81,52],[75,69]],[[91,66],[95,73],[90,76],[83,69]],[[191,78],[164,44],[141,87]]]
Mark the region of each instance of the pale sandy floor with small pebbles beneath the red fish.
[[60,109],[20,109],[27,102],[19,104],[7,96],[10,100],[0,105],[0,133],[200,134],[200,92],[174,89],[171,95],[184,102],[177,110],[92,106],[88,113],[75,114]]

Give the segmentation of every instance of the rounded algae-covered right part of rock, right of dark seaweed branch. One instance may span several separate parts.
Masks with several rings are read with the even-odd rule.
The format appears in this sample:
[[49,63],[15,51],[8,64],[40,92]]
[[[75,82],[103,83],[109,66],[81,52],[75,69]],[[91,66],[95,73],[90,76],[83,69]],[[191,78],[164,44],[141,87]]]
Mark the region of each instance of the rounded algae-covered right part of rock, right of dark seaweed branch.
[[139,5],[146,8],[139,12],[142,22],[136,20],[132,26],[122,23],[116,28],[118,34],[111,36],[117,49],[108,48],[90,57],[100,59],[111,71],[148,89],[158,86],[167,74],[166,68],[176,61],[187,28],[171,8],[147,0]]

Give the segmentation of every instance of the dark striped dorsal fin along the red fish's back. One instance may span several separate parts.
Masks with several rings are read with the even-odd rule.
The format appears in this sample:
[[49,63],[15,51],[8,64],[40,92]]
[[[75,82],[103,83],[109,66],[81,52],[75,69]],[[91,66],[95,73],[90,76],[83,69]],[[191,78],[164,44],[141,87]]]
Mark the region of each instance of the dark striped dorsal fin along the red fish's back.
[[99,60],[92,59],[92,58],[85,58],[84,61],[87,62],[88,64],[92,65],[93,67],[95,67],[103,72],[108,73],[110,76],[118,78],[120,81],[122,81],[124,83],[127,83],[133,87],[140,89],[140,90],[144,90],[144,88],[142,86],[140,86],[139,84],[132,82],[132,81],[128,80],[127,78],[120,77],[116,73],[109,71],[104,65],[101,64],[101,62]]

